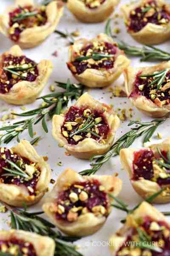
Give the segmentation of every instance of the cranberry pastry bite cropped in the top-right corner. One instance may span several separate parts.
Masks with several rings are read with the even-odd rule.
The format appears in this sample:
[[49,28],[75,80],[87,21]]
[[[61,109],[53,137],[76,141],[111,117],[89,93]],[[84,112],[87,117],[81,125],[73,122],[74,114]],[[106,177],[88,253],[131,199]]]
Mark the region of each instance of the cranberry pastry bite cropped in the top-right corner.
[[161,44],[170,39],[170,4],[164,0],[140,0],[123,5],[127,32],[139,43]]

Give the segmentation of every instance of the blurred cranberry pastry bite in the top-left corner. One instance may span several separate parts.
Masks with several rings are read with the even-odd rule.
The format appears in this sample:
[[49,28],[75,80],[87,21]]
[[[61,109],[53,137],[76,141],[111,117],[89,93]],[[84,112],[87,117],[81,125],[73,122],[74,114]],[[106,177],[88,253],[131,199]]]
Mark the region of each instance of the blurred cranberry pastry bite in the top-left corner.
[[0,15],[0,32],[21,48],[32,48],[54,32],[63,13],[62,1],[36,6],[33,0],[16,0]]

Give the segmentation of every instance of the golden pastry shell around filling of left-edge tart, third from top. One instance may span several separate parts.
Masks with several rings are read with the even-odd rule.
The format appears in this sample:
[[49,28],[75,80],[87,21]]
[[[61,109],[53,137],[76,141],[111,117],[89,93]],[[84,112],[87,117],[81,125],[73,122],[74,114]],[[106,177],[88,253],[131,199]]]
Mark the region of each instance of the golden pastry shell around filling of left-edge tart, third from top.
[[11,206],[23,207],[23,203],[26,203],[27,206],[31,206],[40,201],[47,191],[48,184],[51,179],[51,168],[44,159],[37,154],[34,147],[26,140],[22,140],[15,147],[12,147],[11,150],[21,157],[25,157],[31,162],[37,163],[41,170],[41,174],[36,185],[36,191],[39,191],[39,194],[35,195],[33,198],[29,195],[28,189],[24,185],[0,183],[0,200]]

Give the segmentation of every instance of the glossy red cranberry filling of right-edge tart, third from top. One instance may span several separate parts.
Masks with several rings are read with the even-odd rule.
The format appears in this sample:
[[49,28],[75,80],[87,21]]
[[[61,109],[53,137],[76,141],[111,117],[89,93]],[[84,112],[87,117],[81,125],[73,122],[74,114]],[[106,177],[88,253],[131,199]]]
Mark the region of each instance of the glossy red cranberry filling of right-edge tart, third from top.
[[[167,152],[161,151],[161,154],[167,159]],[[165,163],[160,156],[154,156],[152,150],[139,150],[134,152],[133,159],[133,180],[140,178],[156,181],[159,185],[170,184],[170,170],[162,168],[155,160]]]

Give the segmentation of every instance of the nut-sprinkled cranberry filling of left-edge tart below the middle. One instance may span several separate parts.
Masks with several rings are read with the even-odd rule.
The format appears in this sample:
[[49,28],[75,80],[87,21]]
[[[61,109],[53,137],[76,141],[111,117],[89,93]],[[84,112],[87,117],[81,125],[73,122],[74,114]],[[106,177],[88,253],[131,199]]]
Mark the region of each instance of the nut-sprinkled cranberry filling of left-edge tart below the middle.
[[[34,173],[29,175],[28,179],[21,177],[21,176],[8,176],[10,172],[7,172],[3,168],[12,169],[11,164],[9,164],[6,160],[9,160],[20,167],[20,169],[24,172],[26,172],[26,165],[34,167]],[[16,170],[16,169],[15,169]],[[6,174],[4,176],[4,174]],[[36,168],[36,164],[33,162],[30,162],[28,159],[23,158],[17,154],[14,154],[11,150],[7,149],[6,147],[0,147],[0,183],[5,184],[14,184],[14,185],[24,185],[27,189],[30,195],[36,194],[36,186],[37,182],[40,177],[40,169]]]

